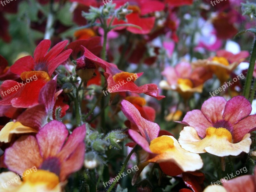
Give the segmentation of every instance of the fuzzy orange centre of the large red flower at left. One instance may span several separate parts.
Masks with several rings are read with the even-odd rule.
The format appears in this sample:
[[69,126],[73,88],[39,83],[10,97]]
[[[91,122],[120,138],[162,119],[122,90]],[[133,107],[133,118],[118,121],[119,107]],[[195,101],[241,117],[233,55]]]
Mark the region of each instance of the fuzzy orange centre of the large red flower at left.
[[49,77],[48,73],[46,71],[25,71],[20,74],[20,78],[22,81],[25,81],[26,79],[37,80],[42,79],[46,82],[50,81],[51,78]]

